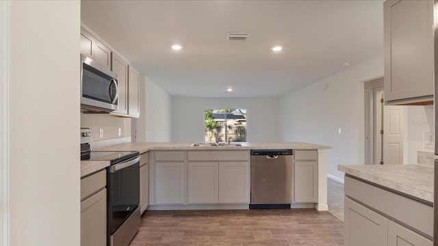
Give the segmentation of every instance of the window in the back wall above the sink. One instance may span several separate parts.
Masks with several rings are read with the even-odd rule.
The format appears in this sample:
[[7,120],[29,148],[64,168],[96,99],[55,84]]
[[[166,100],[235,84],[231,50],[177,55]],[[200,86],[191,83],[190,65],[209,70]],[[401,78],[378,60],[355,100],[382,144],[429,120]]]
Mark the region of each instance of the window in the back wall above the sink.
[[246,141],[246,109],[204,109],[204,141]]

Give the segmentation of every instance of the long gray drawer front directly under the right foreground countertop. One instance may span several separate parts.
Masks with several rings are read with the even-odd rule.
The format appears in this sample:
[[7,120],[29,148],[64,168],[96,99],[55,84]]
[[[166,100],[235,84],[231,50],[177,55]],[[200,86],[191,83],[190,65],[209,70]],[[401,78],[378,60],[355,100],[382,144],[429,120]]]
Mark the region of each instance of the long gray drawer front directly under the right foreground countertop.
[[[353,197],[388,217],[433,236],[433,206],[348,176],[345,177],[344,187],[346,196]],[[415,212],[415,216],[409,212]]]

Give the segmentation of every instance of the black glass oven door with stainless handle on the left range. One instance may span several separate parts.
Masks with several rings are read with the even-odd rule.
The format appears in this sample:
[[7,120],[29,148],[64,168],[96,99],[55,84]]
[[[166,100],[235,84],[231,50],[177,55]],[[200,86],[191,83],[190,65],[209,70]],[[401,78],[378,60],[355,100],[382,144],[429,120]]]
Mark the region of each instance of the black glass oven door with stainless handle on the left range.
[[107,169],[107,229],[110,235],[140,204],[140,156]]

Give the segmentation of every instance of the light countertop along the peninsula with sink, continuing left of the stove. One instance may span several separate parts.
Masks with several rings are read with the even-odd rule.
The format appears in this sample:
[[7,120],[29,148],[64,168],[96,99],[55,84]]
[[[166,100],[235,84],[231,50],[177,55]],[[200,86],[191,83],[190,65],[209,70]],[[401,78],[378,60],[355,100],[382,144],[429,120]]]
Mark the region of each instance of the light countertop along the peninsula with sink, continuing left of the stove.
[[[242,146],[199,146],[191,147],[192,143],[120,143],[92,150],[133,151],[140,154],[149,150],[255,150],[255,149],[293,149],[293,150],[328,150],[330,146],[315,143],[283,142],[283,143],[241,143]],[[81,177],[92,174],[110,165],[110,161],[81,161]]]

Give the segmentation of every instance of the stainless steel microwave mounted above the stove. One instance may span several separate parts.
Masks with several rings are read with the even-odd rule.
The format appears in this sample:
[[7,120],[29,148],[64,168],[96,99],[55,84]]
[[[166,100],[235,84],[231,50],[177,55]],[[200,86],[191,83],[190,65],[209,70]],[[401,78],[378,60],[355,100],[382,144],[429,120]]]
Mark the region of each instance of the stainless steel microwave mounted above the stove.
[[118,109],[118,76],[81,55],[81,111],[108,113]]

